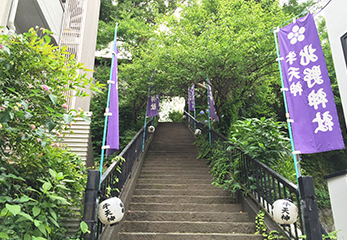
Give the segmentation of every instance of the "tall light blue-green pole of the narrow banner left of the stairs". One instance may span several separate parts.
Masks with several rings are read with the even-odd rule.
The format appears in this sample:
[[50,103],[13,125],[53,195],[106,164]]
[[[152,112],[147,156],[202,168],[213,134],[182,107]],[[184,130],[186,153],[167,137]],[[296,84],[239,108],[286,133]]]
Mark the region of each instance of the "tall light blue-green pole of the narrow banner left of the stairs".
[[116,23],[116,27],[115,27],[115,31],[114,31],[114,38],[113,38],[113,51],[114,54],[112,55],[112,65],[111,65],[111,71],[110,71],[110,82],[108,84],[108,93],[107,93],[107,104],[106,104],[106,112],[105,112],[105,124],[104,124],[104,134],[103,134],[103,138],[102,138],[102,147],[101,147],[101,159],[100,159],[100,181],[99,181],[99,190],[101,188],[101,176],[102,176],[102,166],[104,164],[104,154],[105,154],[105,143],[106,143],[106,133],[107,133],[107,124],[108,124],[108,109],[110,107],[110,96],[111,96],[111,87],[112,87],[112,72],[113,72],[113,68],[117,67],[114,66],[114,59],[116,58],[115,54],[116,54],[116,47],[117,47],[117,29],[118,29],[118,23]]

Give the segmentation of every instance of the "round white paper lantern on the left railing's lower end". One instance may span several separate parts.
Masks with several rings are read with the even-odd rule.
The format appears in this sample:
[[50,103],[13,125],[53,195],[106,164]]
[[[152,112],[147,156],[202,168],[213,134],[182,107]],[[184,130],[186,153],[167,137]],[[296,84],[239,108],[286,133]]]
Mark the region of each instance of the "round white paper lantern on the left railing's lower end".
[[98,216],[103,224],[114,224],[124,216],[124,204],[119,198],[109,198],[99,204]]

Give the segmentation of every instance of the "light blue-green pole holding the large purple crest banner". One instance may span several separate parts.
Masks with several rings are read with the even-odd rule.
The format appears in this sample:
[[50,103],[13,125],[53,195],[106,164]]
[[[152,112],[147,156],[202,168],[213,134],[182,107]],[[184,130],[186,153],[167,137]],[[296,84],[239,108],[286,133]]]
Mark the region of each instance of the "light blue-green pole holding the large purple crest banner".
[[276,53],[277,53],[277,59],[278,59],[277,60],[278,68],[279,68],[280,76],[281,76],[281,86],[282,86],[284,107],[285,107],[285,111],[286,111],[288,132],[289,132],[289,137],[290,137],[290,145],[292,147],[294,167],[295,167],[295,173],[296,173],[296,180],[297,180],[297,183],[299,184],[299,180],[298,179],[301,176],[301,171],[299,171],[298,162],[297,162],[297,158],[298,158],[299,154],[295,154],[295,146],[294,146],[294,141],[293,141],[292,126],[290,124],[290,116],[289,116],[288,105],[287,105],[286,90],[284,88],[284,82],[283,82],[283,73],[282,73],[282,67],[281,67],[281,60],[280,60],[280,54],[279,54],[279,48],[278,48],[276,31],[274,31],[274,38],[275,38],[275,43],[276,43]]

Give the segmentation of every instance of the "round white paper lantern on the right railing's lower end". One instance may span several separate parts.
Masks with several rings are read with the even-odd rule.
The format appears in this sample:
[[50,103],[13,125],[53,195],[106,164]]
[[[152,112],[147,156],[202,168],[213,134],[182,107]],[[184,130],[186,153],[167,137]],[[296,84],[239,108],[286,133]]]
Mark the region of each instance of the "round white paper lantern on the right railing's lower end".
[[272,204],[272,216],[278,224],[293,224],[298,218],[298,208],[287,199]]

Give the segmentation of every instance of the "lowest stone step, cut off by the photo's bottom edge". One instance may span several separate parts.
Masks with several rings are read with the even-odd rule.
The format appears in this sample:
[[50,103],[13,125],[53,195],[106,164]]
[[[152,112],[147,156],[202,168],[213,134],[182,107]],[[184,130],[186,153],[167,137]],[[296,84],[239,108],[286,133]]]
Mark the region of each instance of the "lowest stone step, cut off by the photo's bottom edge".
[[259,234],[123,232],[120,240],[262,240]]

